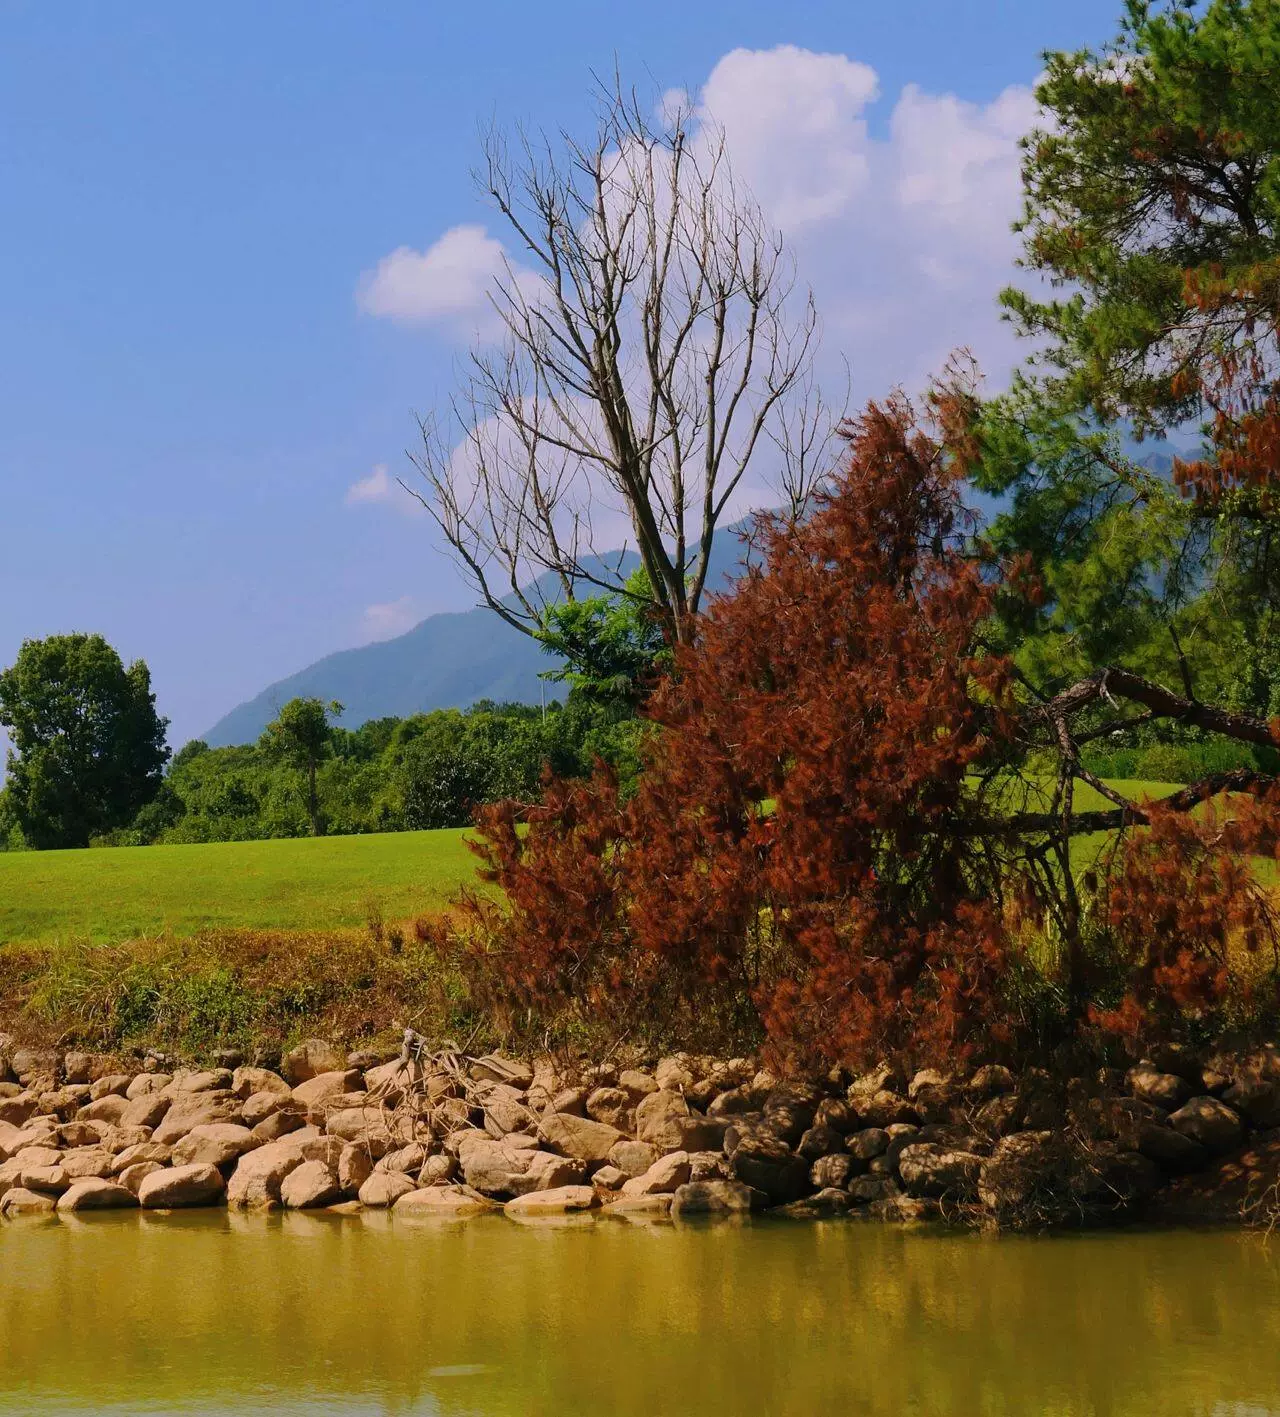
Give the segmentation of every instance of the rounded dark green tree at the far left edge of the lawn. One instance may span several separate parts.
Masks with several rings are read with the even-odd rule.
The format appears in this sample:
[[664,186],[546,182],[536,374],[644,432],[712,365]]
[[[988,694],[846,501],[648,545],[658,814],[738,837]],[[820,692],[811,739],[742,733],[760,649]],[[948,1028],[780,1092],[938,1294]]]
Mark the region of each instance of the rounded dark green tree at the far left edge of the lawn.
[[23,642],[0,673],[9,801],[34,847],[88,846],[128,826],[160,789],[169,748],[152,676],[101,635]]

